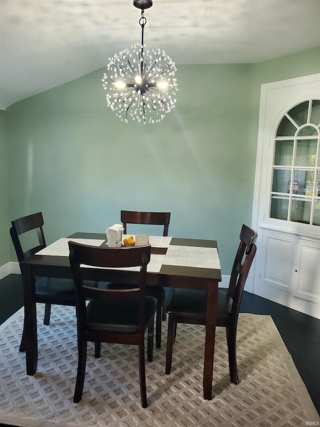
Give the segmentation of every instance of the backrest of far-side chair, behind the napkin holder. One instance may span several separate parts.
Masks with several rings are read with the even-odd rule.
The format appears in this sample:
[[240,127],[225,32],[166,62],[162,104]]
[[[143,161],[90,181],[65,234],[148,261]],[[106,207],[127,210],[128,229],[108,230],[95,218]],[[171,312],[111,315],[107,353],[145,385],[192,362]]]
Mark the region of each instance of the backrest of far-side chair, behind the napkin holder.
[[126,224],[163,225],[163,236],[168,235],[170,212],[136,212],[121,211],[123,233],[126,234]]

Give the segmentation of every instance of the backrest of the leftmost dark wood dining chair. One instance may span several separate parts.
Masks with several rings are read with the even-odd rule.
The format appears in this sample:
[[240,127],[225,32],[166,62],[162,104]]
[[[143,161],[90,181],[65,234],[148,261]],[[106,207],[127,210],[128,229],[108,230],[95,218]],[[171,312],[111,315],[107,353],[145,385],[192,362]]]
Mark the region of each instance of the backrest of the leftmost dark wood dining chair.
[[[10,235],[19,262],[35,254],[39,250],[45,248],[46,244],[42,229],[43,217],[41,212],[15,219],[14,221],[11,221],[11,224],[12,227],[10,228]],[[22,249],[21,240],[19,236],[31,230],[36,230],[38,244],[24,251]]]

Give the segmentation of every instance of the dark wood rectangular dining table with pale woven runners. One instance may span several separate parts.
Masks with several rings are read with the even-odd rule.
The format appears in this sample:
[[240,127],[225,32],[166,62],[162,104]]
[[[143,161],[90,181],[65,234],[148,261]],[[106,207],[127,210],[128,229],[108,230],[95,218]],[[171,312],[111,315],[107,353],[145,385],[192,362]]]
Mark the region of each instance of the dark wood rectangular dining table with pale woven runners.
[[[106,236],[101,233],[74,233],[67,237],[72,239],[96,239],[103,240],[106,245]],[[77,240],[76,240],[77,241]],[[90,244],[90,243],[86,243]],[[93,244],[93,243],[92,243]],[[50,246],[47,246],[49,248]],[[45,249],[47,249],[45,248]],[[166,256],[175,249],[188,249],[183,255],[182,261],[178,259],[176,265],[166,264]],[[197,249],[195,249],[197,248]],[[215,260],[211,251],[203,248],[214,248]],[[204,267],[193,262],[192,255],[188,252],[197,253],[197,258],[205,257]],[[201,289],[207,291],[207,323],[205,328],[204,364],[203,364],[203,396],[205,399],[212,398],[212,375],[213,354],[215,338],[215,312],[217,305],[218,282],[221,281],[221,270],[218,261],[217,243],[215,240],[170,238],[168,247],[152,247],[152,254],[162,254],[164,259],[159,271],[147,272],[147,285],[162,286],[184,289]],[[185,258],[186,257],[186,258]],[[217,260],[216,260],[217,257]],[[178,258],[178,257],[177,257]],[[184,261],[186,260],[186,262]],[[197,260],[199,262],[199,260]],[[201,261],[200,261],[201,262]],[[182,265],[181,265],[182,264]],[[184,265],[185,264],[185,265]],[[195,266],[194,266],[195,265]],[[212,268],[211,268],[212,267]],[[23,295],[24,295],[24,333],[25,333],[25,359],[26,373],[33,375],[37,367],[37,327],[36,327],[36,304],[35,304],[35,280],[36,276],[72,278],[69,258],[67,254],[59,255],[32,255],[20,262]],[[134,283],[137,273],[130,270],[83,268],[83,278],[94,281],[112,281]]]

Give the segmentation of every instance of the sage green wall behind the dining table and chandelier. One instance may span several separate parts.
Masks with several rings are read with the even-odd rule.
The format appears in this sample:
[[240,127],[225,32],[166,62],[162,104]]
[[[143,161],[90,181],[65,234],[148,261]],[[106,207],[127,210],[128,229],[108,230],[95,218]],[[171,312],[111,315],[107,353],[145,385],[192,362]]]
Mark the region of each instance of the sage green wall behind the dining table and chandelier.
[[106,107],[104,70],[10,106],[8,218],[42,211],[51,243],[104,232],[121,209],[170,211],[169,234],[217,239],[229,274],[241,224],[251,223],[260,85],[319,72],[319,52],[178,66],[176,107],[153,125],[125,124]]

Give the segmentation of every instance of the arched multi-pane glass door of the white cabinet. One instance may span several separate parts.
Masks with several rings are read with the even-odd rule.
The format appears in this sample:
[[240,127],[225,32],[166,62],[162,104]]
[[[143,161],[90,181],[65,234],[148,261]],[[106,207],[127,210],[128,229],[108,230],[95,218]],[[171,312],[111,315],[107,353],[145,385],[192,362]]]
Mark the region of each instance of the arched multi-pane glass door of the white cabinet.
[[320,100],[284,114],[274,138],[269,217],[320,227]]

